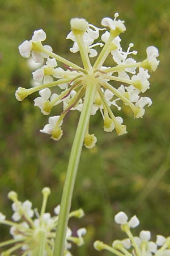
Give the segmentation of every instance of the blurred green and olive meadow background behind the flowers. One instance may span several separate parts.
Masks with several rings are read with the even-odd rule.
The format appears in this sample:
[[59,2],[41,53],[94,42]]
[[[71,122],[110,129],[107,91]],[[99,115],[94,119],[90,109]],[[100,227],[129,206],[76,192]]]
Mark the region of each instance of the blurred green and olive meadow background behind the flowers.
[[[9,218],[11,202],[7,193],[14,190],[19,199],[33,201],[41,206],[41,189],[52,190],[48,210],[60,202],[63,181],[73,142],[79,113],[69,113],[63,123],[64,135],[54,142],[41,134],[48,117],[33,106],[37,94],[16,101],[18,86],[28,88],[31,71],[27,60],[18,52],[25,39],[31,39],[34,30],[42,28],[47,35],[46,44],[53,51],[79,64],[79,57],[70,53],[72,42],[66,40],[70,19],[86,18],[100,27],[104,16],[115,12],[125,20],[127,31],[122,47],[134,43],[137,60],[146,57],[146,47],[159,48],[160,65],[150,79],[151,88],[146,96],[153,105],[143,119],[133,119],[128,109],[121,116],[128,127],[128,134],[117,137],[105,133],[100,113],[91,118],[90,131],[98,138],[93,150],[83,148],[79,172],[74,189],[72,209],[83,208],[86,216],[70,220],[74,230],[86,227],[86,245],[73,246],[76,256],[109,255],[98,253],[92,246],[96,239],[111,243],[124,238],[120,227],[114,224],[114,214],[123,210],[137,214],[141,229],[169,236],[170,230],[170,5],[169,0],[0,0],[0,212]],[[111,60],[109,60],[111,64]],[[54,115],[61,107],[55,108]],[[118,114],[118,113],[116,113]],[[140,228],[134,230],[137,234]],[[0,227],[0,240],[7,237],[7,230]]]

